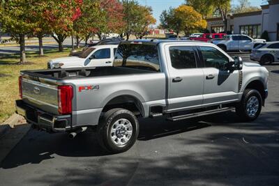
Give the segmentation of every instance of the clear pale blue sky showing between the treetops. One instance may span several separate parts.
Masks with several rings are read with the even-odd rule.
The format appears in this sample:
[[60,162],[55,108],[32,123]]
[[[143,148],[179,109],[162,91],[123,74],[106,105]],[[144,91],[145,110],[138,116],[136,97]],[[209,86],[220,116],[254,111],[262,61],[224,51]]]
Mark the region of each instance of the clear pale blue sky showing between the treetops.
[[[156,25],[160,23],[159,17],[163,10],[168,10],[169,7],[176,8],[180,6],[182,3],[184,3],[184,0],[137,0],[140,4],[145,6],[145,3],[147,6],[151,6],[153,9],[153,17],[156,18],[157,22]],[[216,0],[218,1],[218,0]],[[250,0],[250,3],[252,6],[260,6],[265,1],[263,0]],[[238,0],[232,0],[232,4],[236,5],[238,3]]]

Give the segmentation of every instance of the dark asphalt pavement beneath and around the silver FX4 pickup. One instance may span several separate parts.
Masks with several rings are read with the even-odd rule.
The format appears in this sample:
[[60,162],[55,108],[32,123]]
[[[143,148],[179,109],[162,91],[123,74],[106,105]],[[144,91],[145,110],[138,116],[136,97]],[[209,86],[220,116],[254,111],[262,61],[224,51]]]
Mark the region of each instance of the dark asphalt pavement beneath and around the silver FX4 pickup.
[[279,63],[266,68],[269,98],[254,122],[234,112],[144,119],[135,146],[117,155],[91,132],[69,139],[30,130],[1,163],[0,185],[278,185]]

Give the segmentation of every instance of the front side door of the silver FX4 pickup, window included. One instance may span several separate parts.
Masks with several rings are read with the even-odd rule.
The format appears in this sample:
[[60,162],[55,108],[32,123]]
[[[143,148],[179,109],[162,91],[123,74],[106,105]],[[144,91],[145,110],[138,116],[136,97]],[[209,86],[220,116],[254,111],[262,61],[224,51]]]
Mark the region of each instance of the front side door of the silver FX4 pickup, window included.
[[225,70],[232,61],[216,47],[199,47],[204,61],[203,106],[223,104],[238,99],[239,71]]

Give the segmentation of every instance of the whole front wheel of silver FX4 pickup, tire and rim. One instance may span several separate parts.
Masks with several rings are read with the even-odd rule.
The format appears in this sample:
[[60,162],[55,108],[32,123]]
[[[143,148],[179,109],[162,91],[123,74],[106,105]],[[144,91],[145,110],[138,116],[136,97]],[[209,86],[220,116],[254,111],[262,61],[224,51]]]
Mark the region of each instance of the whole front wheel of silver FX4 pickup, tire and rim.
[[262,110],[262,95],[255,89],[246,89],[240,104],[236,107],[238,114],[244,121],[255,120]]

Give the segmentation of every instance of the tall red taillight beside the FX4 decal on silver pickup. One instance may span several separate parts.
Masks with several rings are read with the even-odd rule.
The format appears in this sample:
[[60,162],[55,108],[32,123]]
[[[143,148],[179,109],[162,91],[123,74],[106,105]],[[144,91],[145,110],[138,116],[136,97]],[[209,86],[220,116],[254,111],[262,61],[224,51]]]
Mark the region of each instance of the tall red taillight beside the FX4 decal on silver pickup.
[[73,87],[58,86],[58,111],[60,114],[72,113]]

